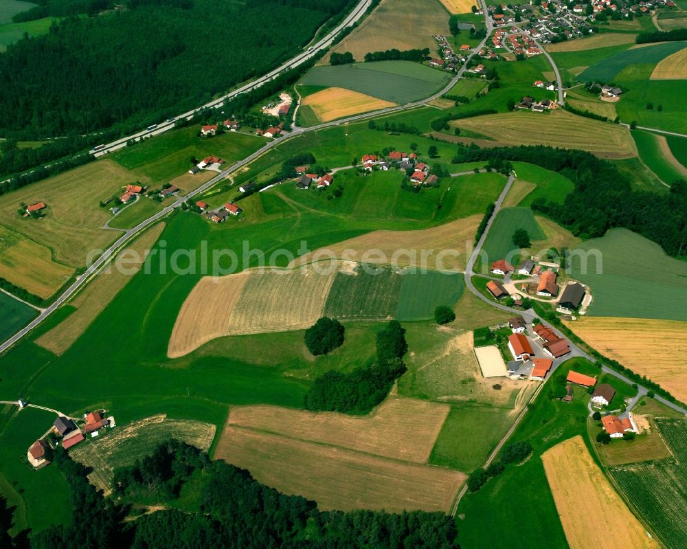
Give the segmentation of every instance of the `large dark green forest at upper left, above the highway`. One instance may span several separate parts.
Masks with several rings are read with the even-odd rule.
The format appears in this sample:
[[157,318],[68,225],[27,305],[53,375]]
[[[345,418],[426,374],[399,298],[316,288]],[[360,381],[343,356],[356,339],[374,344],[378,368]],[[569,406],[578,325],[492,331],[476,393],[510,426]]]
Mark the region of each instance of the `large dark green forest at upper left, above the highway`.
[[350,3],[129,0],[69,16],[0,54],[0,135],[160,122],[268,72]]

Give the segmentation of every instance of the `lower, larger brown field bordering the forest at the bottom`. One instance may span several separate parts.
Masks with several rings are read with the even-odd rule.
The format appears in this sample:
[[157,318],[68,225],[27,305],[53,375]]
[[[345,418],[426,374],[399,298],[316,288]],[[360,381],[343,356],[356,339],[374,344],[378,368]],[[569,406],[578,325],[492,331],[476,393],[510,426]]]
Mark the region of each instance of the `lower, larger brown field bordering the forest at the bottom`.
[[282,493],[315,500],[323,510],[446,512],[466,480],[458,471],[231,425],[214,458],[248,469]]

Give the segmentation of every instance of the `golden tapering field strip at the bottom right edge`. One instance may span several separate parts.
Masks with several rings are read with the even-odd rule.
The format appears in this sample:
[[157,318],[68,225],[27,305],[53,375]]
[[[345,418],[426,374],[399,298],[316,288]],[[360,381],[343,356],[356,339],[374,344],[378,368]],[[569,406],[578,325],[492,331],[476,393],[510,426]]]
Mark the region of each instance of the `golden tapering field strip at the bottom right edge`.
[[660,547],[613,490],[581,436],[548,449],[541,460],[571,549]]

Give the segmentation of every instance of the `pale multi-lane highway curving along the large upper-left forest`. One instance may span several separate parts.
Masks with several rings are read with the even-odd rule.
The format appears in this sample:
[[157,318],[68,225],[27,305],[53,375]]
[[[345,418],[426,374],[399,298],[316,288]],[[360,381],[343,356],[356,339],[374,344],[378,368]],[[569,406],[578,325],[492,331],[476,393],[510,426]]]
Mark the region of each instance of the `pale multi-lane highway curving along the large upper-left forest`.
[[145,129],[143,131],[139,131],[138,133],[134,133],[133,135],[121,137],[120,139],[117,139],[111,143],[106,144],[102,148],[98,148],[97,151],[91,150],[91,153],[96,157],[100,157],[102,155],[106,155],[107,153],[113,152],[113,150],[125,147],[126,143],[130,139],[133,139],[134,141],[140,141],[144,137],[153,137],[153,135],[159,135],[174,128],[174,124],[175,122],[177,122],[177,120],[190,120],[190,118],[193,117],[194,113],[200,109],[212,109],[221,107],[224,104],[225,100],[232,99],[240,95],[241,93],[253,91],[254,89],[257,89],[260,86],[262,86],[264,83],[269,82],[270,80],[274,80],[274,78],[279,76],[282,72],[288,71],[289,69],[293,69],[294,67],[297,67],[302,63],[305,63],[308,59],[311,59],[315,55],[317,55],[320,50],[329,47],[333,43],[334,38],[337,36],[337,34],[339,34],[339,32],[341,32],[344,28],[353,25],[359,19],[361,19],[361,17],[365,14],[368,8],[370,8],[371,3],[372,0],[361,0],[358,3],[358,5],[354,8],[354,10],[350,12],[350,14],[348,14],[346,19],[339,23],[339,25],[337,25],[337,27],[335,27],[334,30],[332,30],[326,36],[324,36],[324,38],[320,39],[314,45],[309,46],[305,52],[302,52],[297,56],[291,58],[280,67],[277,67],[276,69],[265,74],[264,76],[260,76],[260,78],[253,80],[248,84],[243,85],[242,87],[227,93],[225,96],[222,96],[221,98],[217,98],[210,102],[207,102],[204,105],[201,105],[201,107],[198,107],[198,109],[194,109],[193,111],[187,111],[183,114],[170,118],[166,122],[157,124],[155,128]]

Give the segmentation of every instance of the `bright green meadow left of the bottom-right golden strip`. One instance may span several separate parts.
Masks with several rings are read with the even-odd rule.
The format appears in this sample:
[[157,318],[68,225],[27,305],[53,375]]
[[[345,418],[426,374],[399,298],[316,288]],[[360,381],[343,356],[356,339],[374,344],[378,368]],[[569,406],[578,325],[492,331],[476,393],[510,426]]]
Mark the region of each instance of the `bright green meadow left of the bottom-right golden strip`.
[[[574,358],[565,361],[556,374],[561,372],[565,376],[570,368],[583,372],[594,366],[585,359]],[[549,386],[530,405],[523,421],[508,438],[508,442],[529,442],[532,456],[522,464],[506,467],[501,475],[488,480],[479,491],[467,493],[460,501],[456,527],[462,548],[567,547],[541,454],[575,435],[583,436],[589,445],[588,395],[584,391],[575,392],[570,403],[554,401],[550,397],[553,381],[548,382]],[[494,527],[494,517],[510,516],[514,510],[517,510],[517,520],[504,520],[498,528]]]

